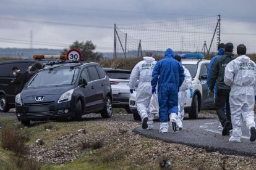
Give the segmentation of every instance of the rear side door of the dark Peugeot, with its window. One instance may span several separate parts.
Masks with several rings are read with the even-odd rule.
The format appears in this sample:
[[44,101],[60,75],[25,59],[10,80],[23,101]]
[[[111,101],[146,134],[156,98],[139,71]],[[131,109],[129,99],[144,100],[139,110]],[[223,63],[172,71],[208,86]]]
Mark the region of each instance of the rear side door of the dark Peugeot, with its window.
[[90,77],[90,80],[92,81],[92,91],[93,91],[93,105],[95,106],[95,110],[98,110],[98,108],[102,108],[104,106],[104,97],[103,97],[103,86],[102,86],[102,80],[100,79],[100,76],[98,75],[98,71],[96,70],[95,66],[89,66],[87,67],[88,75]]

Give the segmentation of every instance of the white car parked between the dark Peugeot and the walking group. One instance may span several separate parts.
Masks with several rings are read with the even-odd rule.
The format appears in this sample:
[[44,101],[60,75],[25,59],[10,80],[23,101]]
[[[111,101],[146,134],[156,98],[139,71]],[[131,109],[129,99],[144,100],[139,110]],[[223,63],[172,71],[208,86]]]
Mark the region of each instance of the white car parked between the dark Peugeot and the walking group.
[[127,113],[132,113],[129,109],[129,81],[130,73],[132,71],[122,70],[116,68],[103,68],[110,80],[112,94],[113,94],[113,107],[125,108]]

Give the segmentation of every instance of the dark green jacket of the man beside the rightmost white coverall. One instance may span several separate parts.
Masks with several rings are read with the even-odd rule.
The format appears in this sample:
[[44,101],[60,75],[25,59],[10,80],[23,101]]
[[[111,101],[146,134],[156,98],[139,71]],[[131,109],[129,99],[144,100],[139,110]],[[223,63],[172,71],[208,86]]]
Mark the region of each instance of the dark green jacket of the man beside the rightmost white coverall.
[[226,65],[234,59],[235,57],[232,52],[224,52],[222,57],[218,57],[215,60],[213,67],[211,68],[209,89],[213,89],[215,83],[217,89],[230,89],[230,86],[224,83],[224,73]]

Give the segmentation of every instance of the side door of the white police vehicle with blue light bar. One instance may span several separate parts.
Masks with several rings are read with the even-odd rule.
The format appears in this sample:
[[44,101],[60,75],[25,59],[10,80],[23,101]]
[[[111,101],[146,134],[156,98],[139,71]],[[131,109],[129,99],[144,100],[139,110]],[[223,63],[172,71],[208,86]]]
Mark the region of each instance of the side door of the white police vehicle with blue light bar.
[[213,93],[208,93],[207,86],[207,63],[203,63],[200,68],[199,80],[202,84],[202,107],[207,107],[208,105],[213,105],[214,95]]

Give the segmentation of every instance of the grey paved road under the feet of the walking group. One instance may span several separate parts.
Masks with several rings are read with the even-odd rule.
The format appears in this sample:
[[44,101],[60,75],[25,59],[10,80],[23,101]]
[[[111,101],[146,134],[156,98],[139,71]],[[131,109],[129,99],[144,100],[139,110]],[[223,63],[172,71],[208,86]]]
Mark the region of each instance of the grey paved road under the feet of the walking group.
[[173,132],[169,128],[166,134],[160,134],[160,123],[155,123],[151,131],[137,127],[134,132],[145,137],[164,140],[165,142],[185,144],[192,147],[205,148],[208,152],[220,152],[230,155],[246,155],[256,157],[256,142],[249,141],[249,131],[242,126],[242,139],[239,143],[228,142],[229,136],[222,136],[218,131],[219,121],[216,118],[184,120],[181,131]]

